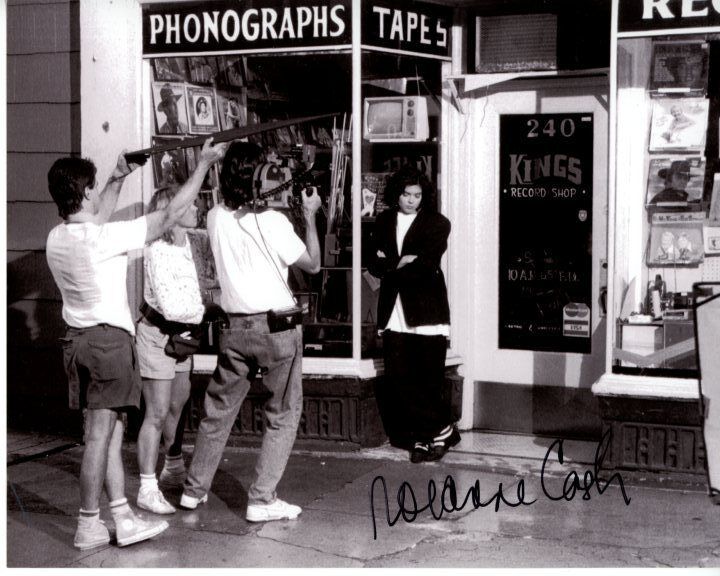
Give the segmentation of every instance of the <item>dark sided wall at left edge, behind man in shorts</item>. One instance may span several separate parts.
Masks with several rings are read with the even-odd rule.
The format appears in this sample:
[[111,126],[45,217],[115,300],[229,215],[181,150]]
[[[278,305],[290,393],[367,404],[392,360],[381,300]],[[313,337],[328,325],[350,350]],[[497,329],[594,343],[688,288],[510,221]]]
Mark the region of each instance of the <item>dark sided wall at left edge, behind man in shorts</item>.
[[[45,260],[60,222],[55,159],[80,154],[79,1],[7,2],[8,424],[56,429],[67,409],[61,300]],[[72,424],[74,427],[74,424]]]

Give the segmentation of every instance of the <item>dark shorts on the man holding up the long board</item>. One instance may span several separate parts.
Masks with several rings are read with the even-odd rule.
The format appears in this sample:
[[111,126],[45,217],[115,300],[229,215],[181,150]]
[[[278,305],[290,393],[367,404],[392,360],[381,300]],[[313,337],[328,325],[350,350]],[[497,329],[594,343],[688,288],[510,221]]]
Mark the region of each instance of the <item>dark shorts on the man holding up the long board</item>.
[[68,327],[60,340],[70,408],[140,407],[140,371],[129,332],[107,324]]

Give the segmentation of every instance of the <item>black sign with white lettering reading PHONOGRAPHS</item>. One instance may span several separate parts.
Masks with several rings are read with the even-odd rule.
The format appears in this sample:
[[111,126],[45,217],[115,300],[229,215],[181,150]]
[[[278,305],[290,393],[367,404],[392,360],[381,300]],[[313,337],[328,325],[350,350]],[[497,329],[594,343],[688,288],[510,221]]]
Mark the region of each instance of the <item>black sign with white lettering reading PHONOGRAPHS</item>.
[[151,3],[143,6],[143,54],[349,45],[350,21],[350,0]]

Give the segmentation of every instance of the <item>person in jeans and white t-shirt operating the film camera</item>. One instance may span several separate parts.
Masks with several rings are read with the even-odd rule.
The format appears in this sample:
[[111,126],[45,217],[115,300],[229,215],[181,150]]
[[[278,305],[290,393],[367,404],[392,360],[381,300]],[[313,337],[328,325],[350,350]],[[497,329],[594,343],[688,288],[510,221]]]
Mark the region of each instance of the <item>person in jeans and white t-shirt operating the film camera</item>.
[[222,290],[220,304],[230,326],[220,333],[220,357],[205,394],[205,416],[198,427],[193,459],[180,506],[194,509],[207,501],[225,442],[251,381],[262,374],[271,397],[265,402],[267,426],[248,489],[246,519],[265,522],[295,518],[299,506],[277,498],[302,413],[301,326],[278,326],[270,311],[294,305],[288,267],[315,274],[320,269],[315,215],[317,193],[303,191],[305,243],[280,212],[260,207],[254,198],[253,172],[261,150],[234,143],[223,160],[220,190],[224,205],[208,214],[207,227]]

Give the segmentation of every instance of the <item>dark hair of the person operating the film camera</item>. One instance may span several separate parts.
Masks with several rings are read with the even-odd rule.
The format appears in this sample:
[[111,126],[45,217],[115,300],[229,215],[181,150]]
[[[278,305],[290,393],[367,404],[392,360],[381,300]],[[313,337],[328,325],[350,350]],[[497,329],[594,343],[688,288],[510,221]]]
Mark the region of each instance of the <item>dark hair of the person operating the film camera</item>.
[[220,192],[228,208],[236,210],[253,200],[253,172],[262,160],[262,148],[251,142],[233,142],[220,169]]

